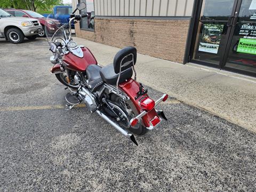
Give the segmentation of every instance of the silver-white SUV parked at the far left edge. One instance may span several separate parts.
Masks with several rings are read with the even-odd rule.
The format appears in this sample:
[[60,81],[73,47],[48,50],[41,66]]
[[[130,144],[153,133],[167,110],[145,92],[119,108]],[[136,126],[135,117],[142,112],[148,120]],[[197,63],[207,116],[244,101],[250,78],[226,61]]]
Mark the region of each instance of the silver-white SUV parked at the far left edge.
[[37,19],[13,17],[0,9],[0,38],[11,43],[22,43],[24,37],[35,39],[41,30],[42,26]]

